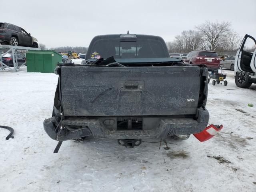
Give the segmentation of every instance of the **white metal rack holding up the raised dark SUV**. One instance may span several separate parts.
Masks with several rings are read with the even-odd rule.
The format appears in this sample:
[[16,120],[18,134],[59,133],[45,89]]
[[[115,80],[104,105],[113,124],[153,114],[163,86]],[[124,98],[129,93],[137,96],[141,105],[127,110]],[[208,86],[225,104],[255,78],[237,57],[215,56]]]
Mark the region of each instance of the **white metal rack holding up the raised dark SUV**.
[[[8,68],[9,70],[12,70],[13,72],[18,72],[18,69],[21,66],[24,66],[26,62],[22,63],[21,66],[18,66],[18,59],[17,59],[17,51],[28,51],[28,50],[40,50],[40,48],[32,48],[32,47],[22,47],[22,46],[11,46],[11,45],[0,45],[0,70],[5,70],[4,66]],[[4,52],[4,54],[2,54]],[[2,61],[3,56],[6,54],[12,54],[12,60],[13,60],[13,67],[7,66]]]

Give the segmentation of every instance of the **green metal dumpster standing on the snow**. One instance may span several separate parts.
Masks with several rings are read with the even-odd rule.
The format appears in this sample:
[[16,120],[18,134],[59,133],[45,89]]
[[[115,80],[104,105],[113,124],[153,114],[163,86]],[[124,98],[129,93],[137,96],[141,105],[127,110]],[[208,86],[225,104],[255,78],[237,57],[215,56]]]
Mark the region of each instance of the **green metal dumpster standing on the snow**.
[[29,50],[26,53],[28,72],[53,73],[62,55],[53,50]]

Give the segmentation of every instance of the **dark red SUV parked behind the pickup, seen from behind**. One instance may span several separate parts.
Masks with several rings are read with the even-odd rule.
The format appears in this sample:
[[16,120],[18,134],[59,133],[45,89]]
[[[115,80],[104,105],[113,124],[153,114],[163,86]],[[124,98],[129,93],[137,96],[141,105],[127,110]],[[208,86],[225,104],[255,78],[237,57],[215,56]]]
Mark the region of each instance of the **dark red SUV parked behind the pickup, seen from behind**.
[[183,60],[188,64],[204,64],[208,70],[216,70],[220,67],[220,58],[214,51],[192,51]]

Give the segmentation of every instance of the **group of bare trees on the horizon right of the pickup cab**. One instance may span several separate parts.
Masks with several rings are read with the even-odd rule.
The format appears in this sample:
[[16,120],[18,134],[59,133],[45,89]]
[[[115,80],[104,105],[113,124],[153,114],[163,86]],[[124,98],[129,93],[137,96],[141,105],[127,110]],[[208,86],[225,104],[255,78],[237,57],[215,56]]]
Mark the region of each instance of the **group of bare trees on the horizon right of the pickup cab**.
[[[242,38],[231,30],[230,22],[209,22],[196,27],[198,30],[185,30],[166,42],[170,53],[185,53],[192,50],[215,50],[219,54],[235,54]],[[251,47],[248,47],[248,50]]]

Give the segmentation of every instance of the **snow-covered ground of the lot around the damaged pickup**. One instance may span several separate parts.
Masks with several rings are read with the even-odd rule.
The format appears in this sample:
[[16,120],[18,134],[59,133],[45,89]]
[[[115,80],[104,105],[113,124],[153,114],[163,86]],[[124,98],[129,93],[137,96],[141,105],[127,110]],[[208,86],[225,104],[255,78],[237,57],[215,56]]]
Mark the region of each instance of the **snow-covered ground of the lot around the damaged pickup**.
[[[74,60],[79,63],[81,60]],[[200,143],[142,143],[126,149],[116,140],[89,138],[57,144],[43,129],[52,113],[58,76],[0,71],[0,125],[14,128],[5,140],[0,128],[1,192],[255,192],[256,85],[209,84],[210,123],[224,128]],[[248,107],[248,103],[254,107]],[[157,140],[151,140],[157,141]]]

